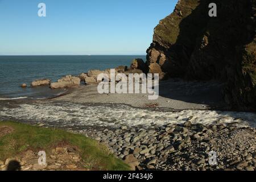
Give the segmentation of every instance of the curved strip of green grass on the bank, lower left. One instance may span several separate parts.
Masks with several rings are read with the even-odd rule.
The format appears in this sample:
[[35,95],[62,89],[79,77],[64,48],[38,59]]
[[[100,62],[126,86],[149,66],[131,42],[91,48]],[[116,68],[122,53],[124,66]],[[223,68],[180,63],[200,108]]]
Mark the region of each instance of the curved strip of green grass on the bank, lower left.
[[[106,146],[80,134],[64,130],[44,129],[16,122],[0,122],[0,126],[13,127],[13,133],[0,137],[0,160],[13,158],[20,153],[44,150],[47,154],[60,143],[79,148],[87,169],[129,170],[129,166],[109,153]],[[1,132],[1,131],[0,131]]]

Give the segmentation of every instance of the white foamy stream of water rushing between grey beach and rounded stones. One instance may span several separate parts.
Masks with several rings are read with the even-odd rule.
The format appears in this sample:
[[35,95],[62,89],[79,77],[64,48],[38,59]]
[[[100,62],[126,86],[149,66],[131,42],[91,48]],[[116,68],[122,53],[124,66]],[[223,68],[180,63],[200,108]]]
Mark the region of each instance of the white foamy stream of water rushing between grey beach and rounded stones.
[[[192,117],[192,119],[191,119]],[[192,123],[210,125],[233,123],[238,126],[256,126],[255,113],[210,110],[152,111],[126,105],[82,105],[70,102],[48,104],[22,104],[15,108],[2,107],[0,119],[16,119],[28,122],[55,122],[61,126],[151,126],[168,123]]]

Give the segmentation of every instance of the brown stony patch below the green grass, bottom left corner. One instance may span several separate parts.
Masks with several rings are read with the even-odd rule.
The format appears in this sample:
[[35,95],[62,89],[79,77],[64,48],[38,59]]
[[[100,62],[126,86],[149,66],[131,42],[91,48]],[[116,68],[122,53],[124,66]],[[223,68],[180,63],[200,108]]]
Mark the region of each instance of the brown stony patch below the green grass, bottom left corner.
[[[50,155],[46,155],[46,165],[38,163],[39,156],[34,151],[26,151],[16,158],[8,158],[5,162],[0,161],[0,171],[5,171],[11,167],[12,163],[20,165],[14,170],[22,171],[46,171],[46,170],[85,170],[86,163],[81,160],[79,151],[75,147],[56,147]],[[88,168],[89,169],[89,168]]]

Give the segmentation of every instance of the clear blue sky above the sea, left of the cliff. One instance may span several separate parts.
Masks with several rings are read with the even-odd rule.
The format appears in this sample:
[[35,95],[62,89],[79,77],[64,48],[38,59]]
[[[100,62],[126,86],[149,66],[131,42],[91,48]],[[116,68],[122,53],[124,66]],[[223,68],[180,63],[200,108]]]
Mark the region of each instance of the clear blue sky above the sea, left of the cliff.
[[[46,17],[38,4],[46,4]],[[0,55],[144,55],[177,0],[0,0]]]

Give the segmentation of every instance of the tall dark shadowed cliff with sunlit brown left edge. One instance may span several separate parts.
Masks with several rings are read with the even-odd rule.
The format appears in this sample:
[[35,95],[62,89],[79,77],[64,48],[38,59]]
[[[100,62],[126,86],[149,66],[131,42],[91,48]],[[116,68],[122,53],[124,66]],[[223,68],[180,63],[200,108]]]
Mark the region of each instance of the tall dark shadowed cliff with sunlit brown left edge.
[[[208,15],[216,3],[217,17]],[[155,27],[147,64],[170,77],[220,80],[225,101],[256,110],[256,0],[180,0]]]

